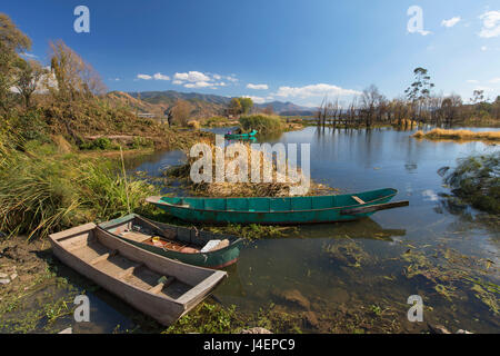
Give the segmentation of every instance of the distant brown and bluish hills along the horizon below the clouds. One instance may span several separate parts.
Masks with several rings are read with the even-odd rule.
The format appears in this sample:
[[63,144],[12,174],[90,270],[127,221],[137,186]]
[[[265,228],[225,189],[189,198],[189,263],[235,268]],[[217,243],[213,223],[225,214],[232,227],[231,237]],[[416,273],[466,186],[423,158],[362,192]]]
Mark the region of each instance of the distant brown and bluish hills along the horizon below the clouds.
[[[178,99],[181,99],[189,102],[192,108],[191,115],[198,118],[224,115],[231,100],[229,97],[217,95],[180,92],[176,90],[141,92],[110,91],[108,92],[108,98],[116,106],[129,106],[138,112],[151,112],[158,116],[163,116],[169,108],[176,105]],[[254,107],[258,110],[262,110],[268,106],[272,106],[272,110],[278,115],[313,115],[311,108],[301,107],[290,101],[256,103]]]

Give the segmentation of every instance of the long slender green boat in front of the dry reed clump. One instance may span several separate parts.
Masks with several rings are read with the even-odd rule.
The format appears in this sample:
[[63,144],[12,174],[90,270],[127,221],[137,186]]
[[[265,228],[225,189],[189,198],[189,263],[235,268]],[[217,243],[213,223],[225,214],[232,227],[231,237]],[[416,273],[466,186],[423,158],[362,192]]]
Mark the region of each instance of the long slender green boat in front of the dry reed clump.
[[186,221],[211,224],[297,225],[356,220],[376,211],[408,206],[389,202],[398,190],[370,190],[354,195],[286,198],[149,197],[148,202]]

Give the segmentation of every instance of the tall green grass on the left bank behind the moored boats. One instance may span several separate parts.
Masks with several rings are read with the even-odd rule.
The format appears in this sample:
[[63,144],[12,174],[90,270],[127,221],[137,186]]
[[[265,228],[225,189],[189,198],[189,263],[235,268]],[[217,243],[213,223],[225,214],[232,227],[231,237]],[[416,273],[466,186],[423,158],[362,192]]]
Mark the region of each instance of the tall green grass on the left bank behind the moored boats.
[[44,237],[124,215],[154,188],[127,179],[111,161],[21,152],[0,144],[0,231]]

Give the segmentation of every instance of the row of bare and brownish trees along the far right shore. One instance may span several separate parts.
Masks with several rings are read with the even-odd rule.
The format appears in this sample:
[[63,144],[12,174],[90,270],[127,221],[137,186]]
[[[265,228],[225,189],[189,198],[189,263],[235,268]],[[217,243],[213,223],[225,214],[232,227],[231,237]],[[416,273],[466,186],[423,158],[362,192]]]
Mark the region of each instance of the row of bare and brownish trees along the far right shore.
[[474,90],[471,103],[467,105],[458,95],[433,93],[434,83],[427,69],[416,68],[413,75],[414,81],[404,90],[404,95],[392,100],[374,85],[347,105],[341,105],[338,98],[329,100],[326,97],[317,111],[318,125],[372,127],[378,123],[407,127],[413,123],[500,123],[500,96],[489,102],[482,90]]

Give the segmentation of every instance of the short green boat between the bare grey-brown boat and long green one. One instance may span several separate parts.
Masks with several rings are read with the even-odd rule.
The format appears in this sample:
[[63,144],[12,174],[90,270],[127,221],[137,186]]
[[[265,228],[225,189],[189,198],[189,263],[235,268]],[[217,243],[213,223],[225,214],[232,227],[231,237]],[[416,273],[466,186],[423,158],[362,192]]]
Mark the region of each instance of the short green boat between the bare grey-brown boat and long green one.
[[136,214],[99,224],[98,227],[150,253],[209,268],[234,264],[243,243],[236,236],[162,224]]

